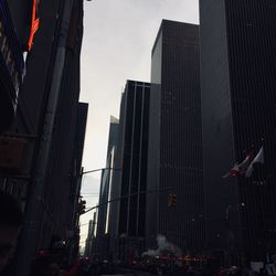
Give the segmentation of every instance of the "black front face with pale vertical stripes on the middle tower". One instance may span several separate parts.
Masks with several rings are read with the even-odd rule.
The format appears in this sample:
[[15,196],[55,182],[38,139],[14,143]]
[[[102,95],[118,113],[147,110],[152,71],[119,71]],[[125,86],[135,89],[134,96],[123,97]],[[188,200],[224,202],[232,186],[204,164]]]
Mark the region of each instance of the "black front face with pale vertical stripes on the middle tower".
[[118,235],[144,237],[149,131],[150,84],[128,81],[123,132],[123,176]]

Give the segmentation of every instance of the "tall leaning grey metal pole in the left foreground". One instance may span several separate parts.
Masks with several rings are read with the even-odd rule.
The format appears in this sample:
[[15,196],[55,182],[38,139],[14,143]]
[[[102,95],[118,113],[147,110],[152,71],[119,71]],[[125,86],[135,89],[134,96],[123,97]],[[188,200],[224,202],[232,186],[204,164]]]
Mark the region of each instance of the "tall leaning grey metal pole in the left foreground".
[[70,29],[70,20],[74,0],[65,0],[63,6],[63,17],[60,30],[60,41],[57,43],[56,59],[53,70],[53,79],[49,93],[49,102],[44,119],[43,132],[40,141],[40,151],[34,170],[30,201],[28,202],[25,226],[22,233],[22,243],[19,250],[17,276],[29,276],[31,262],[35,255],[36,243],[40,231],[41,213],[43,208],[44,180],[47,161],[51,150],[54,120],[57,102],[60,97],[61,83],[64,71],[66,40]]

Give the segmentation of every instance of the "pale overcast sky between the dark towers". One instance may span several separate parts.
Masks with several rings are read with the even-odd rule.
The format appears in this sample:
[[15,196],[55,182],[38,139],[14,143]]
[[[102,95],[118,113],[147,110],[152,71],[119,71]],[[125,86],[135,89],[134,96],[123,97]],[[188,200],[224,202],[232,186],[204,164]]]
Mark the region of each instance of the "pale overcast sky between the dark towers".
[[[199,23],[198,0],[93,0],[84,6],[81,100],[89,104],[83,166],[105,167],[110,115],[118,118],[127,79],[149,82],[150,54],[162,19]],[[87,206],[97,203],[99,173],[85,176]],[[81,219],[86,224],[92,217]],[[82,227],[85,240],[87,225]]]

